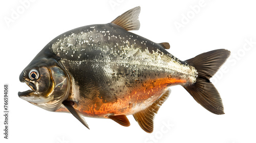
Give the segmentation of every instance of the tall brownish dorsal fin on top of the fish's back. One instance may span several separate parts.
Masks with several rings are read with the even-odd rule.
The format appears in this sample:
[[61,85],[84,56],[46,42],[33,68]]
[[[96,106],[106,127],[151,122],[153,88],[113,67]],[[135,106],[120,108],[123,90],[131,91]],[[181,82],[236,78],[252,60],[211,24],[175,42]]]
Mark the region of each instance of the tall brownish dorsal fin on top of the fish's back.
[[129,11],[124,12],[122,15],[118,16],[111,23],[114,23],[127,31],[130,30],[139,30],[140,21],[139,21],[140,7],[135,7]]

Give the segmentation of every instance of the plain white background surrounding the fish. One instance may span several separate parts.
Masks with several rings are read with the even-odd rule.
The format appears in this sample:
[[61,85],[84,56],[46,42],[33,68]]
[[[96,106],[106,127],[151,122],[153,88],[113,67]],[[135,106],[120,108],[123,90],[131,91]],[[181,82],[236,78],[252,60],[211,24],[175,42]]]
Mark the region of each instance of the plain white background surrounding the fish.
[[[25,6],[24,1],[0,2],[1,95],[5,83],[10,87],[9,139],[2,134],[1,96],[0,142],[256,142],[255,1],[38,0]],[[169,42],[168,51],[181,60],[215,49],[231,51],[212,81],[221,94],[224,115],[208,112],[183,87],[174,86],[155,117],[153,133],[140,129],[132,115],[127,116],[130,127],[85,117],[88,130],[71,114],[49,112],[18,98],[18,91],[29,89],[19,82],[19,74],[50,40],[77,27],[108,23],[136,6],[141,6],[141,27],[132,32]],[[252,44],[246,42],[250,40]]]

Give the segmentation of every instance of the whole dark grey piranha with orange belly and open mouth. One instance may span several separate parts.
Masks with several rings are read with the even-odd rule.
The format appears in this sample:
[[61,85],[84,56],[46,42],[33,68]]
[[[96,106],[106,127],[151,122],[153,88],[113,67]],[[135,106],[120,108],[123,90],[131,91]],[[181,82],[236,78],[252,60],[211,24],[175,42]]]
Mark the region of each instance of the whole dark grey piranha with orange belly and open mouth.
[[129,32],[140,28],[139,13],[136,7],[110,23],[54,38],[20,74],[31,90],[18,96],[48,111],[70,112],[88,129],[82,116],[128,127],[126,115],[133,115],[144,131],[153,132],[154,117],[174,85],[183,86],[208,111],[224,114],[210,78],[230,52],[219,49],[181,61],[166,51],[169,43]]

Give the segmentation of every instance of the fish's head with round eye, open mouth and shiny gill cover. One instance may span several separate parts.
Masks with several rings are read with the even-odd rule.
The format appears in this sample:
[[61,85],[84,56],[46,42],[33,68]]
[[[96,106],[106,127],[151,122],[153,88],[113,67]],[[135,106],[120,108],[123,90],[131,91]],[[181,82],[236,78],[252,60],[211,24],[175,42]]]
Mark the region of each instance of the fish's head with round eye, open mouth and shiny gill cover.
[[18,92],[19,98],[43,109],[55,111],[68,98],[69,76],[54,59],[43,58],[30,63],[20,74],[19,80],[31,88]]

